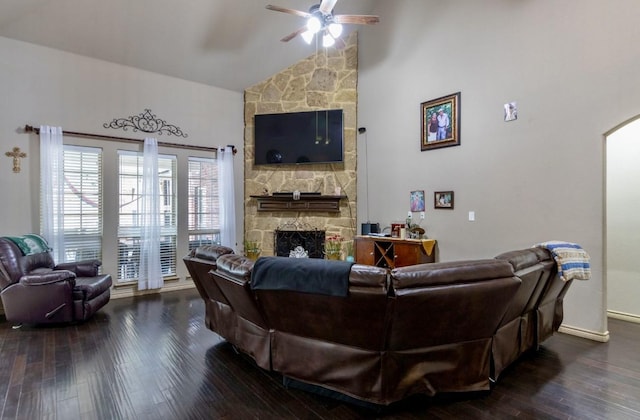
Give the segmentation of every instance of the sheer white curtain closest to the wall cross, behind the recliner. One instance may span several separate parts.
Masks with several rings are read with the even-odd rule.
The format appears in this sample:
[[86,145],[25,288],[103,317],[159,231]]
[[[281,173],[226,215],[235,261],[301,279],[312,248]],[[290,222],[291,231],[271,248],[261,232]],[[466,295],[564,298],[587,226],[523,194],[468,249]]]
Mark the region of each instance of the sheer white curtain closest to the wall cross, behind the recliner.
[[53,248],[56,263],[64,262],[64,145],[62,128],[40,126],[40,233]]

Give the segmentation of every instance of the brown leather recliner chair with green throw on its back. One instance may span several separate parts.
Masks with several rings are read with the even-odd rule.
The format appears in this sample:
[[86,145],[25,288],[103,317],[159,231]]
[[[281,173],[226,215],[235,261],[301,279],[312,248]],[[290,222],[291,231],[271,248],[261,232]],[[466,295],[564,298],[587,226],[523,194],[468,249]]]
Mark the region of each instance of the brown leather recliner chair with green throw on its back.
[[0,238],[0,296],[7,321],[45,324],[84,321],[111,296],[111,275],[99,260],[55,265],[49,251],[25,255]]

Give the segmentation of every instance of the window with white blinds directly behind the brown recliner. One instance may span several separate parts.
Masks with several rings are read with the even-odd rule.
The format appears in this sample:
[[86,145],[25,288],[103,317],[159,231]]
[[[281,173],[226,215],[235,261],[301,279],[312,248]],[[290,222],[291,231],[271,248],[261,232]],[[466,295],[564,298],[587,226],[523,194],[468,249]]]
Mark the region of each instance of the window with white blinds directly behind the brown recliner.
[[64,146],[64,261],[102,259],[102,149]]

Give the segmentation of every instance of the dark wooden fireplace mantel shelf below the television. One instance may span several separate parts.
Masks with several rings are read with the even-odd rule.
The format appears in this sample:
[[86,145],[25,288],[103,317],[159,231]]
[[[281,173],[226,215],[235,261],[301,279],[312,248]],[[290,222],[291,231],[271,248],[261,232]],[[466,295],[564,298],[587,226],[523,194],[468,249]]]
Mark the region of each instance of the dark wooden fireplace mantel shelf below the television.
[[258,202],[258,211],[319,211],[340,212],[340,200],[345,195],[321,195],[300,193],[299,199],[293,193],[277,193],[273,195],[252,195]]

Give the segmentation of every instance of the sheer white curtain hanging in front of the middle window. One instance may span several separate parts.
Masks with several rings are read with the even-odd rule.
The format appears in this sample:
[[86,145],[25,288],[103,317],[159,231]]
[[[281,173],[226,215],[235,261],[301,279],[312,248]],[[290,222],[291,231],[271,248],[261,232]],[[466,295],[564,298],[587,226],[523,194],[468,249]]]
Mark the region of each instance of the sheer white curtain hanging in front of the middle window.
[[160,265],[160,180],[158,177],[158,140],[144,139],[140,217],[140,273],[138,289],[163,286]]

